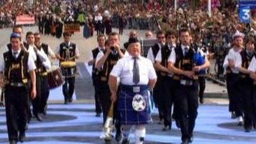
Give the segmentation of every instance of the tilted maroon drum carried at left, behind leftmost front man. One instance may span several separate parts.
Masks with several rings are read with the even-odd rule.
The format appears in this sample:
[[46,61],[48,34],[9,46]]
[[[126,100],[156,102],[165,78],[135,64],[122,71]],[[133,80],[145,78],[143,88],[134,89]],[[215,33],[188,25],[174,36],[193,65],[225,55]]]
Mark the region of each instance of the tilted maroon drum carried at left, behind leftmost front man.
[[47,72],[47,78],[50,89],[57,88],[64,83],[64,78],[59,68],[53,68]]

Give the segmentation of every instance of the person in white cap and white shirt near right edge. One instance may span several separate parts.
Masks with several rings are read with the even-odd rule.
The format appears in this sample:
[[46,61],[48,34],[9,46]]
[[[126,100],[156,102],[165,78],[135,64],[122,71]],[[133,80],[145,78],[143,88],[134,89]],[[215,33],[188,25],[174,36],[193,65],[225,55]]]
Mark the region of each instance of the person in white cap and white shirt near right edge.
[[239,96],[239,87],[238,87],[238,79],[239,79],[239,70],[235,68],[235,63],[238,62],[238,57],[241,57],[240,52],[244,47],[244,34],[237,31],[232,36],[233,39],[233,47],[229,50],[228,53],[228,66],[231,68],[231,76],[229,81],[230,86],[230,102],[232,105],[233,111],[235,111],[235,116],[238,119],[238,125],[242,126],[242,105],[241,98]]

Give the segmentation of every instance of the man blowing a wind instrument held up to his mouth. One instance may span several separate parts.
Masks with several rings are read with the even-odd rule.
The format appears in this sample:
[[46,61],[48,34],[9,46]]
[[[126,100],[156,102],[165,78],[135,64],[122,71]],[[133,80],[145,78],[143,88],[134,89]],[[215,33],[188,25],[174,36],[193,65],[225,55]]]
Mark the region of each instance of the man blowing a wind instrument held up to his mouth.
[[[108,43],[105,46],[104,52],[98,53],[96,57],[96,68],[100,71],[100,101],[103,107],[103,124],[107,119],[108,110],[110,110],[110,88],[108,87],[108,77],[110,75],[113,66],[117,63],[117,60],[124,57],[125,50],[120,48],[120,37],[118,33],[110,33]],[[114,108],[116,110],[116,108]],[[117,111],[114,113],[117,119]],[[116,121],[116,140],[121,140],[121,127]]]

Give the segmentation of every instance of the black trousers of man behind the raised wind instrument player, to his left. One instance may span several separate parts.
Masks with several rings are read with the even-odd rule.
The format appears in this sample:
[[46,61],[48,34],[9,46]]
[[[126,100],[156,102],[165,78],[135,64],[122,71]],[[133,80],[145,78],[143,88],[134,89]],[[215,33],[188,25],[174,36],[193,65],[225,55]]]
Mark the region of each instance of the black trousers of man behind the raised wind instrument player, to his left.
[[102,113],[103,108],[101,105],[101,100],[100,100],[100,86],[98,79],[93,79],[94,81],[94,100],[95,100],[95,112],[96,113]]

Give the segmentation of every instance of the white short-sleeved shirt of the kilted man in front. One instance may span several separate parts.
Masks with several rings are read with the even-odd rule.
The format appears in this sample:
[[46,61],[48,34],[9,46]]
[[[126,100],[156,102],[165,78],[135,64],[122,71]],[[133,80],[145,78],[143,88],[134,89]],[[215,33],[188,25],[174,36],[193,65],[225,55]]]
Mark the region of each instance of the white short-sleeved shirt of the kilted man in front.
[[[116,78],[120,78],[120,82],[123,85],[135,85],[133,82],[134,61],[135,60],[130,55],[119,59],[110,72],[110,75],[115,76]],[[139,65],[140,75],[140,81],[137,85],[148,85],[150,79],[157,78],[151,60],[139,56],[139,59],[137,59],[137,64]]]

